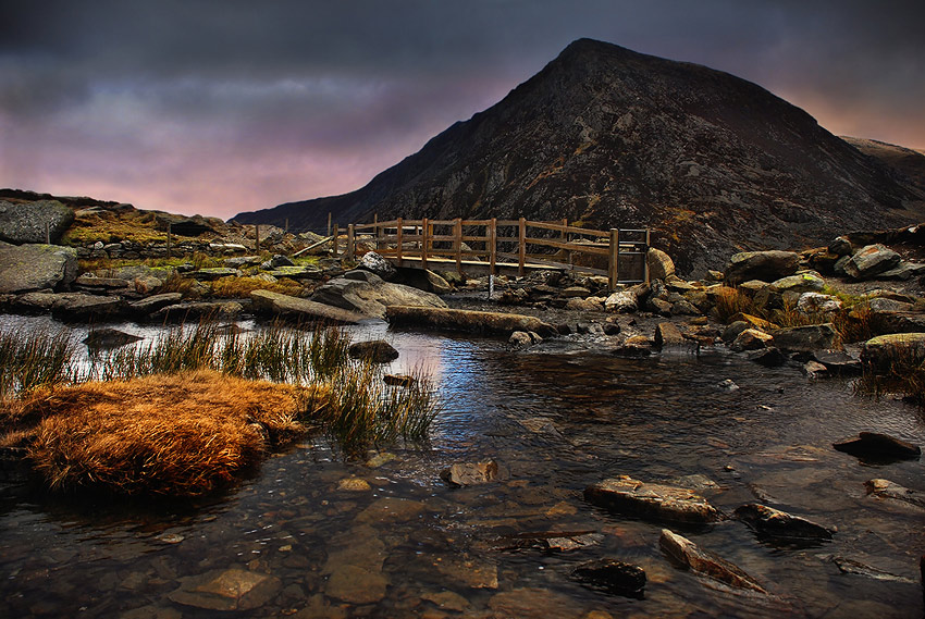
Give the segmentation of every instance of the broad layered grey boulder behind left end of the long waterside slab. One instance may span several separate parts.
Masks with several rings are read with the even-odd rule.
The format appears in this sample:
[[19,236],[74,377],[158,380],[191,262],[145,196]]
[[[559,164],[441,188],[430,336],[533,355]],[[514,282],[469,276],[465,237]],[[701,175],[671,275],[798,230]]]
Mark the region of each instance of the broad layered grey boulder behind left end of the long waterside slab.
[[443,299],[411,286],[390,282],[362,282],[337,277],[319,286],[311,300],[343,308],[368,318],[385,318],[390,306],[445,308]]

